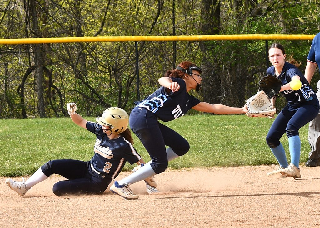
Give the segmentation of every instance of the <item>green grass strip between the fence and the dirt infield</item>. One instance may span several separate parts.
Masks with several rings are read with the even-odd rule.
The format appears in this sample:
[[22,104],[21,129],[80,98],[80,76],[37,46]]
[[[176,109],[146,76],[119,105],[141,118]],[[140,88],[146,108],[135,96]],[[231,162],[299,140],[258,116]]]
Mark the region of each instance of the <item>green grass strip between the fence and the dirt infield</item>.
[[[94,118],[86,118],[94,121]],[[190,143],[189,152],[169,163],[169,168],[277,164],[265,137],[274,119],[244,115],[187,115],[164,123]],[[0,119],[0,176],[32,174],[53,159],[88,161],[95,135],[70,118]],[[301,159],[308,160],[308,125],[300,129]],[[150,157],[134,137],[134,147],[145,161]],[[282,144],[290,158],[288,138]],[[124,170],[132,166],[126,163]]]

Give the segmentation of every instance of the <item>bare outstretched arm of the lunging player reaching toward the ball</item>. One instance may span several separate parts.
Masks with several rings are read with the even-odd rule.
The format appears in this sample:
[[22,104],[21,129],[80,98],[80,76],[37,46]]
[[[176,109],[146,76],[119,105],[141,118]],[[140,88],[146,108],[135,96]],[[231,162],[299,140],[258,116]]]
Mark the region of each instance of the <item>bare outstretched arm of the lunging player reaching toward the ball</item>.
[[200,102],[196,106],[192,107],[192,109],[214,114],[245,114],[248,112],[246,105],[242,108],[237,108],[223,104],[210,104],[206,102]]

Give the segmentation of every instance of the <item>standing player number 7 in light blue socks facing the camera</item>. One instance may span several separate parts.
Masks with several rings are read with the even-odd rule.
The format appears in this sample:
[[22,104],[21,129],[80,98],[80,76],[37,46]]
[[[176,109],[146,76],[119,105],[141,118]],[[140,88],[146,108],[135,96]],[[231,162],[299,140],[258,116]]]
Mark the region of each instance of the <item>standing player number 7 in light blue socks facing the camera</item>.
[[[319,102],[310,87],[308,80],[297,68],[294,59],[285,61],[286,54],[281,44],[274,43],[269,48],[269,60],[273,66],[267,69],[267,74],[275,75],[282,82],[280,92],[288,104],[281,110],[271,125],[266,141],[272,153],[280,164],[279,169],[267,173],[268,176],[278,175],[300,178],[300,149],[299,129],[313,120],[319,112]],[[276,97],[273,97],[275,103]],[[284,147],[280,138],[286,133],[289,141],[291,162],[288,164]]]

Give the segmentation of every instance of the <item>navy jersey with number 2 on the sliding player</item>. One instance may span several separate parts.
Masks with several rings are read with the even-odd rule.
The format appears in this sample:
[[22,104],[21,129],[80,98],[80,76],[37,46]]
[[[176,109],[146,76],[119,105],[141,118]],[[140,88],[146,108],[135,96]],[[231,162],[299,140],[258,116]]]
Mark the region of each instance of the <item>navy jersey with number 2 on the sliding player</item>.
[[87,122],[88,131],[97,136],[94,144],[94,156],[91,158],[92,169],[100,172],[101,176],[115,179],[123,169],[126,161],[130,164],[138,162],[141,157],[133,148],[132,144],[124,137],[110,140],[106,134],[103,134],[100,124]]

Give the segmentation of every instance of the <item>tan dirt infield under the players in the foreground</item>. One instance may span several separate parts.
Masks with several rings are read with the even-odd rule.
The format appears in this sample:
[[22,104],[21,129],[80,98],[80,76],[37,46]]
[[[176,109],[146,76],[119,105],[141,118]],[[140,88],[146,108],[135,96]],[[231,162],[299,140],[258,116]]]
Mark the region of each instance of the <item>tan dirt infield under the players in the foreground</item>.
[[142,182],[131,186],[138,200],[108,190],[57,197],[52,186],[60,176],[19,196],[0,178],[0,227],[320,227],[320,167],[302,166],[296,180],[270,179],[273,169],[165,171],[156,176],[161,193],[148,195]]

